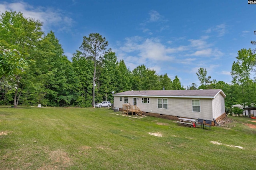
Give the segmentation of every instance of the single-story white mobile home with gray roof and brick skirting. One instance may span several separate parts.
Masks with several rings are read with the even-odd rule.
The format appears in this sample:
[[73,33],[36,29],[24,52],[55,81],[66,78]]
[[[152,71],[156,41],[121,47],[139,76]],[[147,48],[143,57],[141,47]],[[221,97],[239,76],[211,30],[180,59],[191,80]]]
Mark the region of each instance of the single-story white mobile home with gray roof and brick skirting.
[[220,89],[209,90],[131,90],[113,94],[114,107],[136,105],[145,115],[178,119],[214,120],[226,117],[226,95]]

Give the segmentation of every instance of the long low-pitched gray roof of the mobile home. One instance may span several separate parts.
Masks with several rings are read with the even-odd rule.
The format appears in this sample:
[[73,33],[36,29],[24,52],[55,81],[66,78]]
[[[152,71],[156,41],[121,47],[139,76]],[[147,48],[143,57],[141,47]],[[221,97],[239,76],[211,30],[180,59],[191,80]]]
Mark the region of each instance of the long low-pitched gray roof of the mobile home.
[[113,94],[113,96],[169,97],[169,98],[215,98],[218,94],[226,95],[220,89],[207,90],[131,90]]

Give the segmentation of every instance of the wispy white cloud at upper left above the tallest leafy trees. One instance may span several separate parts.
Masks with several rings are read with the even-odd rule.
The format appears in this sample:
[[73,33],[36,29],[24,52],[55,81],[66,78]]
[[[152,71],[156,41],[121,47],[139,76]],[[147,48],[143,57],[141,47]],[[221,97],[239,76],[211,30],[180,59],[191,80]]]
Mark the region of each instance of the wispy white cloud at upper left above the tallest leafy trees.
[[50,31],[52,27],[56,27],[57,31],[69,31],[74,23],[74,20],[61,10],[41,6],[34,7],[26,2],[0,2],[0,12],[6,10],[22,12],[26,18],[40,20],[43,22],[42,29],[44,31]]

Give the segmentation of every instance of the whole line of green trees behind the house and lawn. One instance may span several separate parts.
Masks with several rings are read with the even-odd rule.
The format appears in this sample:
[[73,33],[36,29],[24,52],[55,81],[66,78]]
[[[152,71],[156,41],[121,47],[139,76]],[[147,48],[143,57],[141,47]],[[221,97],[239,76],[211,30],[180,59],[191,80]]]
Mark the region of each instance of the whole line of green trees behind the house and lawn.
[[54,32],[42,31],[40,20],[6,11],[0,17],[0,104],[92,107],[95,102],[113,102],[112,92],[162,90],[164,86],[166,90],[222,89],[227,107],[251,106],[256,100],[255,79],[251,79],[255,54],[242,49],[236,59],[232,84],[211,80],[206,69],[199,68],[200,86],[192,83],[184,88],[178,76],[171,80],[143,64],[129,70],[99,33],[84,36],[69,61]]

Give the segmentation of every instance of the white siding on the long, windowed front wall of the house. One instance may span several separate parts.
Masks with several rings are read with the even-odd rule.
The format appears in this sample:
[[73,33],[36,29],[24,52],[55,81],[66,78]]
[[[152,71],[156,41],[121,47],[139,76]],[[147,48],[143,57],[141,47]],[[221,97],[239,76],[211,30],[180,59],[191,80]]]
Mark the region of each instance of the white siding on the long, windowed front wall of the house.
[[[122,102],[119,101],[120,96],[114,96],[114,107],[122,108],[124,104],[124,97]],[[157,108],[157,99],[150,97],[150,103],[142,103],[142,97],[137,98],[137,106],[141,111],[158,113],[164,115],[172,115],[179,117],[189,117],[194,119],[212,119],[212,100],[211,99],[198,99],[200,100],[200,112],[192,111],[192,98],[168,98],[168,109]],[[139,98],[139,99],[138,99]],[[144,97],[147,98],[147,97]],[[164,99],[164,98],[161,98]],[[128,97],[128,103],[132,104],[133,97]]]

